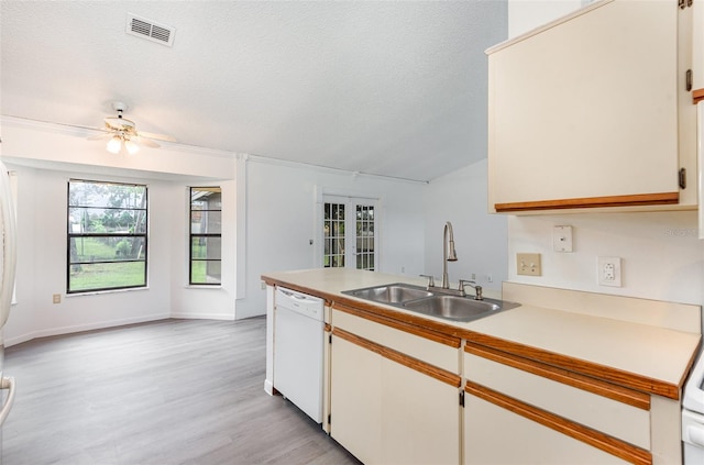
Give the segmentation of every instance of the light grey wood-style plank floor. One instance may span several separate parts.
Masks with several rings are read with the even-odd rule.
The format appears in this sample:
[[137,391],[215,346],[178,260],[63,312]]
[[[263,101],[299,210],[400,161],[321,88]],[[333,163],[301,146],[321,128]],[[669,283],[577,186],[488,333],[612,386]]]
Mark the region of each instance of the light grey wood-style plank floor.
[[3,465],[359,464],[264,392],[265,325],[163,320],[7,348]]

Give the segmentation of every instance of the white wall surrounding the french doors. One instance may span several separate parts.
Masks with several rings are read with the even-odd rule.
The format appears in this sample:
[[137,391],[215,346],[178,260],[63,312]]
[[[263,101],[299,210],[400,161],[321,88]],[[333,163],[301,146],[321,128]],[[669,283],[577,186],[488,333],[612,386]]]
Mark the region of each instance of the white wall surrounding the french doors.
[[[265,312],[261,276],[267,272],[316,268],[321,193],[380,200],[380,266],[384,273],[424,273],[425,184],[353,175],[305,165],[246,162],[246,283],[237,318]],[[314,244],[310,241],[314,240]]]

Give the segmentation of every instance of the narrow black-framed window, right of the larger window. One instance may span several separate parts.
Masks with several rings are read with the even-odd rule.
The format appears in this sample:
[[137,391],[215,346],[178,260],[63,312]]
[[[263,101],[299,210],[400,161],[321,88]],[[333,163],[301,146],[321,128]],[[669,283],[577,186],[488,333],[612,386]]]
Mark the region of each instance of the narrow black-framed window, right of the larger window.
[[190,188],[190,266],[191,285],[222,283],[222,192],[219,187]]

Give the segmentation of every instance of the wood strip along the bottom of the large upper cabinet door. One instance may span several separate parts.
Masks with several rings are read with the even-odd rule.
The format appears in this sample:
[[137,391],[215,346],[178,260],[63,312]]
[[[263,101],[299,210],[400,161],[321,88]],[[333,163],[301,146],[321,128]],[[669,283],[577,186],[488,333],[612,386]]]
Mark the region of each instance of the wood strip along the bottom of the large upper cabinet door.
[[679,201],[680,192],[658,192],[495,203],[494,209],[497,213],[505,213],[512,211],[562,210],[572,208],[661,206],[674,204]]

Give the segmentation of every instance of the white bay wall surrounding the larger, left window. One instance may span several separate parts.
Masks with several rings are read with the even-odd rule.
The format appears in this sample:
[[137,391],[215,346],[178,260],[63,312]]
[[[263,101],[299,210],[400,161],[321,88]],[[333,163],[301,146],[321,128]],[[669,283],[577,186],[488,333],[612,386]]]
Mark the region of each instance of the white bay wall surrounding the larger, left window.
[[[167,318],[169,241],[150,242],[148,289],[66,296],[66,173],[8,164],[18,173],[16,306],[6,344],[32,337]],[[127,179],[111,177],[110,180]],[[129,181],[144,181],[129,179]],[[174,188],[148,182],[150,237],[168,237]],[[52,302],[58,294],[62,303]]]

